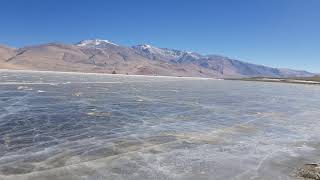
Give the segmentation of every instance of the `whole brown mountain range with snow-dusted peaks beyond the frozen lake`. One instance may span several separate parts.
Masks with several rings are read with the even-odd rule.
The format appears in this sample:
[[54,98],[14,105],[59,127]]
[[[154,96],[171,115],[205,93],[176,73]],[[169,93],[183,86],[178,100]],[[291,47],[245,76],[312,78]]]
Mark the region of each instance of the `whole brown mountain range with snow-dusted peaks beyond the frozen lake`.
[[75,45],[49,43],[13,49],[0,46],[0,68],[197,77],[312,76],[217,55],[157,48],[120,46],[108,40]]

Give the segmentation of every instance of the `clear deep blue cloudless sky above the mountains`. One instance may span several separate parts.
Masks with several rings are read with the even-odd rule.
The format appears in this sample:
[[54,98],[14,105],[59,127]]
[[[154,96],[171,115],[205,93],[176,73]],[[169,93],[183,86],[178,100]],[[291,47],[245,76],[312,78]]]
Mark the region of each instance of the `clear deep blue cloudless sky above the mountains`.
[[320,0],[1,0],[0,44],[91,38],[320,72]]

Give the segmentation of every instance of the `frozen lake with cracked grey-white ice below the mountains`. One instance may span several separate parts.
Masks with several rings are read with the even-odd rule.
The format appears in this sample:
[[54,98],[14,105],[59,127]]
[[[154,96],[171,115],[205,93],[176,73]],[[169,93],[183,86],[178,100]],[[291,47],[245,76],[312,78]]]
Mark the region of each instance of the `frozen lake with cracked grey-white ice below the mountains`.
[[0,179],[294,179],[320,86],[0,71]]

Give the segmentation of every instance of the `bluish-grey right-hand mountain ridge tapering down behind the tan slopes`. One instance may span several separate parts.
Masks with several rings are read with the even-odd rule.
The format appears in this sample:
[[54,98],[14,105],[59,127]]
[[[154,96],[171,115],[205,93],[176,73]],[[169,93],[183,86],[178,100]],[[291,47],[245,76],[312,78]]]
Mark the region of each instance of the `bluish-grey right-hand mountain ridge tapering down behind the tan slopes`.
[[150,45],[133,46],[138,53],[153,60],[165,60],[178,64],[195,64],[201,68],[210,69],[225,76],[310,76],[306,71],[271,68],[262,65],[246,63],[218,55],[200,55],[194,52],[155,48]]

